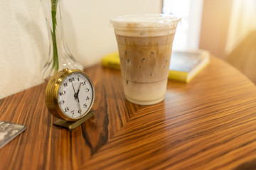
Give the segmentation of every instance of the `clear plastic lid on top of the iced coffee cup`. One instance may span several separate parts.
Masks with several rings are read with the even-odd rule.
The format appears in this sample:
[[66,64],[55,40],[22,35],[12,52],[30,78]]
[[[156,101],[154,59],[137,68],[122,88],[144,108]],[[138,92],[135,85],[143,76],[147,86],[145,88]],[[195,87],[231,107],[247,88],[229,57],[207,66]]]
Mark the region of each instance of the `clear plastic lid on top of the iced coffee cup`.
[[114,28],[168,28],[177,26],[181,18],[162,13],[132,14],[112,18]]

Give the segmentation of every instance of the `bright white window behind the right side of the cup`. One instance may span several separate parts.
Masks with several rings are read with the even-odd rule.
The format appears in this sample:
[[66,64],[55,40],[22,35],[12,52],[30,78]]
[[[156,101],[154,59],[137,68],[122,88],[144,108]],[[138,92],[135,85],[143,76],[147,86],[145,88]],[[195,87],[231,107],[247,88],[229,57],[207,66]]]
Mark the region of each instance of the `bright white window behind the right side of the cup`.
[[203,0],[164,0],[163,13],[181,17],[174,38],[174,50],[198,48]]

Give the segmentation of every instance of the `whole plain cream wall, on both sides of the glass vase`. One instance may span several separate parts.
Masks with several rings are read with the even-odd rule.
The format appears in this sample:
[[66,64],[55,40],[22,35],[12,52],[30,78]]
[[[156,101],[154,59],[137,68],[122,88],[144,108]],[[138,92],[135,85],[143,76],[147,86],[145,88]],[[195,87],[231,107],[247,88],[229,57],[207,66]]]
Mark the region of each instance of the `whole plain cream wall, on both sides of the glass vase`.
[[[110,18],[160,12],[161,0],[63,0],[65,39],[74,57],[87,67],[117,50]],[[43,82],[41,71],[47,50],[40,1],[0,1],[0,98]]]

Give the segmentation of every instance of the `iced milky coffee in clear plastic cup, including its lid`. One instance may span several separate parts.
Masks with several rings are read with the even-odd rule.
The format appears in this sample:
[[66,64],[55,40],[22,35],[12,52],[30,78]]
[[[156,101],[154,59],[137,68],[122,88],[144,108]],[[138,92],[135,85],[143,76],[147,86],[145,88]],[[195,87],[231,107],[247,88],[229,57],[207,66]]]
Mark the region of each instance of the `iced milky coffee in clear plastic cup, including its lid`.
[[149,105],[164,99],[172,42],[180,20],[163,14],[112,19],[128,101]]

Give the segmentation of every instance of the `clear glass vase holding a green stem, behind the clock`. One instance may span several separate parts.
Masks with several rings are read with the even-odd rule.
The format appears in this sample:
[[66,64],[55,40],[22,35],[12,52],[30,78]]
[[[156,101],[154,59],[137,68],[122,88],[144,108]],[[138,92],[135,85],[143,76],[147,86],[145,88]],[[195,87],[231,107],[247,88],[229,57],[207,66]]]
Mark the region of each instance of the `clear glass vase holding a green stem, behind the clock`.
[[43,67],[43,79],[46,81],[62,69],[83,69],[65,42],[62,28],[60,0],[41,0],[49,37],[48,61]]

